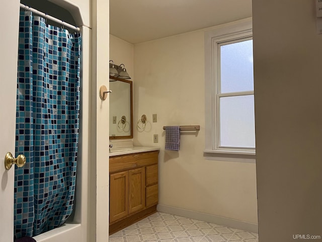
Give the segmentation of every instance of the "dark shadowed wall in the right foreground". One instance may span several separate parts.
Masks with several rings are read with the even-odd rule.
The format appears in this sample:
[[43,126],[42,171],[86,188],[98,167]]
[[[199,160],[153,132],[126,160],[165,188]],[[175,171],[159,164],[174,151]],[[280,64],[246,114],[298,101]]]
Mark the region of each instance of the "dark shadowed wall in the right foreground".
[[261,242],[322,236],[322,36],[314,7],[253,1]]

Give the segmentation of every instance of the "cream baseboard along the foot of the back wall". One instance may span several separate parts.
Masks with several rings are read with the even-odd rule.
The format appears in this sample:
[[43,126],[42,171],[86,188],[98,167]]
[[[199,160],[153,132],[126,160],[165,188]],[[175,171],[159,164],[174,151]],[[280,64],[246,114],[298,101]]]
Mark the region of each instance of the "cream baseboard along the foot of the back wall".
[[236,220],[232,218],[226,218],[221,216],[216,216],[207,213],[201,213],[197,211],[171,207],[167,205],[158,204],[156,207],[158,212],[169,213],[173,215],[178,215],[186,218],[197,219],[209,223],[215,223],[231,228],[237,228],[249,232],[258,233],[258,225],[256,223],[245,222],[241,220]]

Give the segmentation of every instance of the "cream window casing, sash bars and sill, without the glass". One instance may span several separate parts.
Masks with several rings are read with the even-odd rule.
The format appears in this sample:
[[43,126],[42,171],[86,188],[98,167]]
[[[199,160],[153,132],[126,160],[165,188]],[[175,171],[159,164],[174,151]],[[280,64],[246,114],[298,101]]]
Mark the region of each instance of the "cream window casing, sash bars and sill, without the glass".
[[[219,147],[219,98],[225,96],[253,95],[254,91],[219,93],[218,44],[252,39],[252,19],[217,26],[205,32],[205,150],[210,159],[255,162],[254,148]],[[242,41],[242,40],[241,40]],[[219,82],[220,83],[220,82]]]

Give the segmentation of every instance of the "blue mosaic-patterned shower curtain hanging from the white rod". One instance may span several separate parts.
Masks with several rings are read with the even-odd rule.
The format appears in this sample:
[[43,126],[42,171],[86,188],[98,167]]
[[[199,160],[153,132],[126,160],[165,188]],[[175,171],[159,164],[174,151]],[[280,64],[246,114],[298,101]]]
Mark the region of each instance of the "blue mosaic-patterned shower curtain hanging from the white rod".
[[75,196],[81,35],[20,13],[15,237],[62,225]]

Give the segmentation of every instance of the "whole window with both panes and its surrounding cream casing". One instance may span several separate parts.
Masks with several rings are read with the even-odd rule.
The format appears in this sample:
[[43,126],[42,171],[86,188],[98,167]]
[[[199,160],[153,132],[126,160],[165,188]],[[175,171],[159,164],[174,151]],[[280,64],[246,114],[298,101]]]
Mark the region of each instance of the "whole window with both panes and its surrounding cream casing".
[[205,153],[255,154],[252,23],[205,33]]

